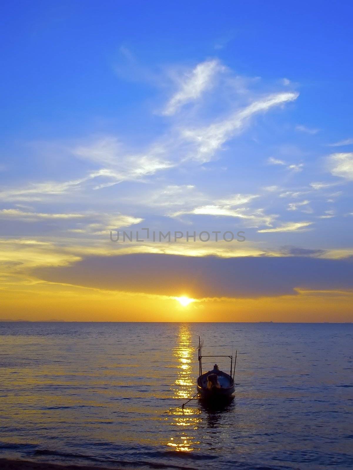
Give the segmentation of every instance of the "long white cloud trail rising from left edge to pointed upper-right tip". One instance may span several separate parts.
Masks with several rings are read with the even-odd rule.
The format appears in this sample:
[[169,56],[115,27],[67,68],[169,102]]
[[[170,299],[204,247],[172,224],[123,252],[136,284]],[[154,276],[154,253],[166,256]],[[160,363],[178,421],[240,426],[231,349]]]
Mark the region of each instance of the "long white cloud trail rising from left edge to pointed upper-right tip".
[[[210,65],[209,62],[207,64]],[[289,92],[270,95],[237,110],[226,120],[207,127],[184,129],[179,134],[172,129],[162,137],[162,141],[156,141],[146,151],[128,152],[112,136],[103,136],[84,144],[60,146],[61,152],[69,149],[71,155],[99,165],[98,169],[74,180],[44,181],[27,187],[8,188],[0,191],[0,200],[42,201],[45,195],[68,195],[87,187],[98,190],[122,181],[142,182],[147,176],[182,165],[188,160],[196,160],[201,164],[208,162],[222,143],[233,137],[235,131],[253,114],[293,101],[297,96]]]

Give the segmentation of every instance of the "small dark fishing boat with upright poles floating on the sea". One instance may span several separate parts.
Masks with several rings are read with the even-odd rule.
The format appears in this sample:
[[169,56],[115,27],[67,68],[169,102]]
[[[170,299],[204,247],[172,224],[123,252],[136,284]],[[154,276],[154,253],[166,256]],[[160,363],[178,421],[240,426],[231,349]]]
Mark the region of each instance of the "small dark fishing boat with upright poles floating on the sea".
[[[199,376],[197,378],[196,386],[197,392],[199,392],[202,399],[207,400],[221,400],[229,399],[232,396],[232,393],[235,391],[234,385],[234,375],[235,375],[235,364],[236,364],[236,354],[235,352],[235,361],[234,361],[234,370],[233,370],[233,355],[226,356],[203,356],[202,355],[202,344],[200,337],[198,337],[198,363],[199,363]],[[203,357],[228,357],[230,359],[230,374],[223,372],[217,366],[214,365],[212,370],[202,373],[202,358]],[[232,376],[233,373],[233,376]]]

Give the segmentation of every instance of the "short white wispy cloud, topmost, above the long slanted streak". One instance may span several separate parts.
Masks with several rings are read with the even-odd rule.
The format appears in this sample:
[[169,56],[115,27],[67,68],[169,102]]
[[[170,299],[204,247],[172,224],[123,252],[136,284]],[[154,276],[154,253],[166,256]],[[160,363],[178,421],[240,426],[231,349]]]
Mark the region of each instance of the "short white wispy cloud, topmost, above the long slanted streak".
[[224,67],[218,60],[210,60],[199,63],[181,80],[180,90],[172,96],[167,103],[163,114],[171,116],[184,104],[199,98],[204,91],[212,87],[213,78],[223,71]]

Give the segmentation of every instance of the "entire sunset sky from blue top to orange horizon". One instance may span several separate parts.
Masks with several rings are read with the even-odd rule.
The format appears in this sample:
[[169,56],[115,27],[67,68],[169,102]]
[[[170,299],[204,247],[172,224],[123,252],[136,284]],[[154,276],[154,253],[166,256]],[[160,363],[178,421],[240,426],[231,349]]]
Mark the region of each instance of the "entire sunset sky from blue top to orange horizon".
[[0,319],[353,321],[351,2],[2,13]]

